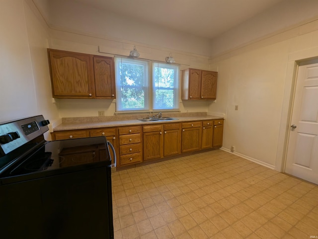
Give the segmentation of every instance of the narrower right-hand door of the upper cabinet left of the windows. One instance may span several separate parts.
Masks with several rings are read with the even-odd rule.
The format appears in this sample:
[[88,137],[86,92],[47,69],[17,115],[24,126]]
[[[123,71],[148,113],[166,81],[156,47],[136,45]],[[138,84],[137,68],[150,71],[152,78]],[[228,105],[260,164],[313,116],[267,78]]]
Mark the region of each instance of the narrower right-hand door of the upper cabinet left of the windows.
[[114,60],[110,57],[94,56],[95,98],[115,99]]

